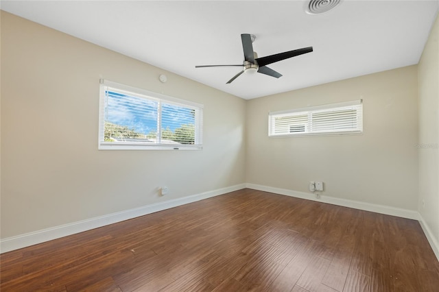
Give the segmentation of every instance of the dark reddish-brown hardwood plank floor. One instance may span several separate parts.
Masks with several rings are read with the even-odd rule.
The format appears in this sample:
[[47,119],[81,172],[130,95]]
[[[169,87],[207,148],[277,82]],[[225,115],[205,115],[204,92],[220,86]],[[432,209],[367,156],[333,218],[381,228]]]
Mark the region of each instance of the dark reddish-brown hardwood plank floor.
[[419,223],[244,189],[1,254],[1,291],[439,291]]

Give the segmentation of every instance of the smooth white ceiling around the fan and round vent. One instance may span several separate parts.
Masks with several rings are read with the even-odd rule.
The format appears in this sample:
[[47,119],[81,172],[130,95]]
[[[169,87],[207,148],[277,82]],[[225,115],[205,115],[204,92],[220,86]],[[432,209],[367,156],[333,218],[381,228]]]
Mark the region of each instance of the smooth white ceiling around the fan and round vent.
[[[307,1],[1,1],[1,9],[167,71],[252,99],[417,64],[438,0],[344,0],[318,15]],[[313,47],[270,64],[278,79],[243,74],[240,34],[259,57]]]

